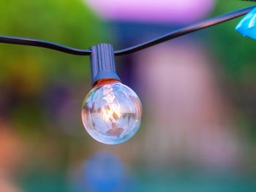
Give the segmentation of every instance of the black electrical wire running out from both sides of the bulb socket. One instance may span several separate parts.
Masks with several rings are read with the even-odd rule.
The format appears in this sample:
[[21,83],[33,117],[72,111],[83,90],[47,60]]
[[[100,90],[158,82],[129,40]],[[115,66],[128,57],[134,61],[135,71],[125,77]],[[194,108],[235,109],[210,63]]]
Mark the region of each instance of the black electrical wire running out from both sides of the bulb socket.
[[[208,20],[203,20],[199,23],[195,23],[184,28],[180,28],[176,31],[172,31],[168,34],[163,35],[162,37],[157,37],[156,39],[151,39],[148,42],[143,42],[139,45],[134,45],[132,47],[127,47],[122,50],[115,50],[115,55],[126,55],[129,53],[134,53],[138,50],[143,50],[147,47],[151,47],[153,45],[157,45],[161,42],[165,42],[170,39],[174,39],[176,37],[181,37],[185,34],[190,34],[192,32],[198,31],[203,28],[208,28],[210,26],[215,26],[219,23],[223,23],[227,20],[232,20],[234,18],[241,17],[245,15],[250,10],[254,9],[256,6],[246,7],[244,9],[238,9],[234,12],[229,12],[224,15],[219,15],[215,18],[210,18]],[[56,44],[53,42],[43,41],[39,39],[29,39],[24,37],[10,37],[10,36],[3,36],[0,35],[0,42],[8,43],[8,44],[15,44],[15,45],[29,45],[35,47],[45,47],[51,50],[58,50],[64,53],[69,53],[73,55],[90,55],[91,50],[82,50],[73,47],[67,47],[64,45]]]

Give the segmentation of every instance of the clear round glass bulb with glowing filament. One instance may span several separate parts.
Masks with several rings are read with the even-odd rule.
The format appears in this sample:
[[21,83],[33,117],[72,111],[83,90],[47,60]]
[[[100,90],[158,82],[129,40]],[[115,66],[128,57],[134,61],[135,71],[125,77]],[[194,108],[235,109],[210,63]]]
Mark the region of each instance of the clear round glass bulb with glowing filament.
[[141,112],[131,88],[117,80],[99,80],[83,101],[83,126],[97,141],[115,145],[138,131]]

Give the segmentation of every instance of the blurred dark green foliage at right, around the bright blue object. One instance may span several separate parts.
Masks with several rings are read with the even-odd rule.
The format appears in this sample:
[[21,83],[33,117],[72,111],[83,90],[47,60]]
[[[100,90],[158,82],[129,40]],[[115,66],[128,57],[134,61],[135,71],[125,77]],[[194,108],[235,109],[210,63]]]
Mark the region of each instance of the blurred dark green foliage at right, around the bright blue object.
[[[252,6],[251,2],[218,1],[212,15],[221,15],[243,7]],[[241,18],[230,20],[218,26],[209,28],[214,51],[222,60],[227,70],[227,78],[236,83],[249,83],[255,80],[255,40],[242,37],[234,31]]]

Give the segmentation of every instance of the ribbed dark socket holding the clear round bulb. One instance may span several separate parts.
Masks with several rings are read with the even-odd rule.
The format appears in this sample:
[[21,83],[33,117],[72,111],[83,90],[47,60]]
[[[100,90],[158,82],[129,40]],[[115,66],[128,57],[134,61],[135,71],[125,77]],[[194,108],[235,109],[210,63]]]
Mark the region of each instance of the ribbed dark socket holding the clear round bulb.
[[121,81],[116,74],[116,64],[113,46],[102,43],[91,49],[91,85],[96,85],[102,79]]

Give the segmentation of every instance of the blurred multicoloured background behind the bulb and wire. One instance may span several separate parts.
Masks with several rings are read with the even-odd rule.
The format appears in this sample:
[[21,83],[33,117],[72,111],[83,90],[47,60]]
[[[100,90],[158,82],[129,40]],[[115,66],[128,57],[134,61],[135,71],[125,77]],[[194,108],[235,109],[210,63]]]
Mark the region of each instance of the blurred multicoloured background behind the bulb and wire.
[[[118,49],[250,5],[1,0],[0,34]],[[116,59],[143,120],[115,146],[80,118],[89,57],[0,44],[0,191],[256,191],[256,42],[239,19]]]

